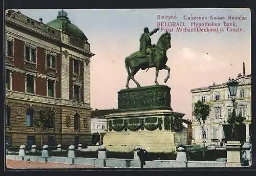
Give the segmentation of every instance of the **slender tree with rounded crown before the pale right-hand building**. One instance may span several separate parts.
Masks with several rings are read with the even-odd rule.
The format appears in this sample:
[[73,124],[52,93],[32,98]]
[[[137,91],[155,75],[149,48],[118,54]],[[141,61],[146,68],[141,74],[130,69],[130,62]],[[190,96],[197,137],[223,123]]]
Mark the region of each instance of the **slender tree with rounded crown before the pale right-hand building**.
[[205,104],[199,100],[197,103],[195,103],[195,107],[194,107],[194,111],[193,111],[193,116],[195,116],[196,120],[198,121],[198,123],[201,126],[202,131],[203,131],[203,143],[204,143],[203,157],[205,155],[205,138],[206,138],[204,124],[205,124],[207,117],[209,117],[210,110],[211,109],[210,109],[209,104]]

